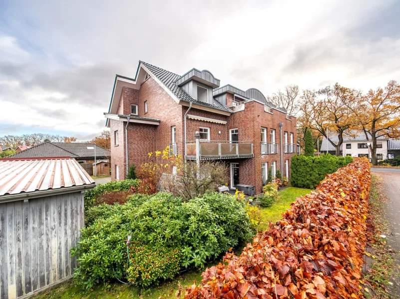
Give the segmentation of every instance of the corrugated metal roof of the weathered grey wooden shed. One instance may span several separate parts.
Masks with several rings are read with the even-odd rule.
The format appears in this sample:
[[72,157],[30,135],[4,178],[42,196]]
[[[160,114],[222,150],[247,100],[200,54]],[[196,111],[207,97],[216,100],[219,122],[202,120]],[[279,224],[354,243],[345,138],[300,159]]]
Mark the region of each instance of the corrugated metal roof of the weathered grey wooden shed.
[[75,159],[0,160],[0,197],[90,184],[94,185],[93,179]]

